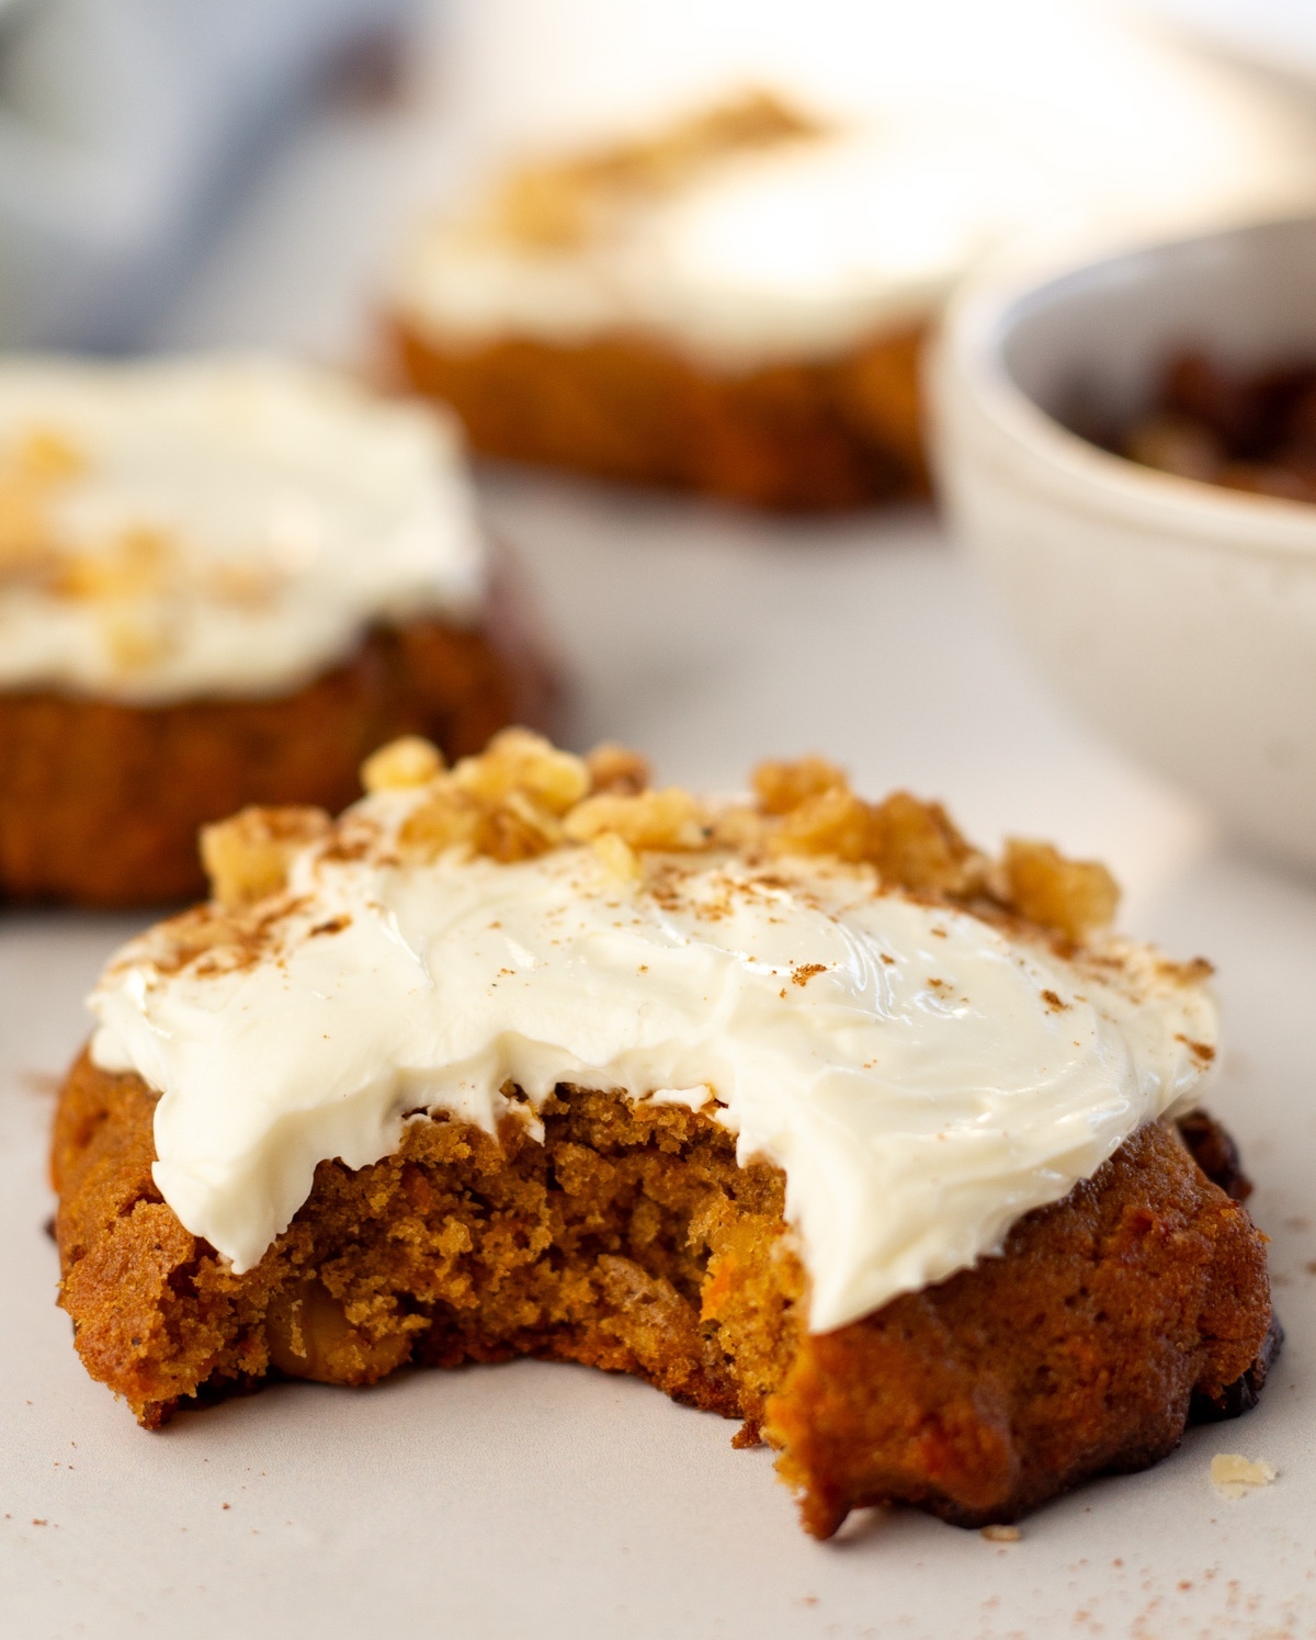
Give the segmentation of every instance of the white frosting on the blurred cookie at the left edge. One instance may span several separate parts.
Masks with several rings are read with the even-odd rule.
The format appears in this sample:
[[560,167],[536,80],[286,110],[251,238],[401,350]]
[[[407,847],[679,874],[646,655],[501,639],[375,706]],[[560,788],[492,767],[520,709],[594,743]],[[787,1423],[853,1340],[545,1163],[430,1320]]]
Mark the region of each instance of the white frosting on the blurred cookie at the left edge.
[[[3,528],[33,433],[75,456],[41,492],[44,554]],[[483,576],[426,408],[274,358],[0,367],[0,689],[279,694],[374,622],[469,620]]]

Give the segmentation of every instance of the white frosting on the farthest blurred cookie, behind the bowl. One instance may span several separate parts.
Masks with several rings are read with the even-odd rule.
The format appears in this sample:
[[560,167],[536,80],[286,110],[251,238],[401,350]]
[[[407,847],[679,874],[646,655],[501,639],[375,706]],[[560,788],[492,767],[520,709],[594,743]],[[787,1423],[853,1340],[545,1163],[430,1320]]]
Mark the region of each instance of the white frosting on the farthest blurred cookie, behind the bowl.
[[1034,182],[946,120],[801,138],[711,164],[608,231],[533,251],[461,218],[411,239],[393,300],[446,344],[649,333],[716,367],[841,353],[926,318]]

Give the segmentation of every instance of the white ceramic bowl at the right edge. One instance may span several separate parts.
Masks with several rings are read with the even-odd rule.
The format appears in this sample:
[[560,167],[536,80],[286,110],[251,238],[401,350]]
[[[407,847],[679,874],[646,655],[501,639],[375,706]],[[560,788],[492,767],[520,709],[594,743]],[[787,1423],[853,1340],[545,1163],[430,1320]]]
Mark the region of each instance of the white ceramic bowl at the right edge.
[[1137,408],[1182,344],[1316,358],[1316,220],[964,290],[931,367],[942,489],[1072,705],[1316,869],[1316,505],[1154,472],[1055,420],[1075,395]]

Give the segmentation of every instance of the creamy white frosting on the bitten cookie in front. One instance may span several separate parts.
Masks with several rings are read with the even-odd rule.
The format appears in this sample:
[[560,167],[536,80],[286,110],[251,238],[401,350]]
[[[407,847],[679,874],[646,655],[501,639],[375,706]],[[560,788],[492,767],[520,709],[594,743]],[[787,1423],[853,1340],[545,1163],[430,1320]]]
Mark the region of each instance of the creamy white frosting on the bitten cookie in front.
[[402,866],[415,800],[359,805],[362,858],[298,858],[257,959],[179,968],[166,923],[92,999],[95,1063],[161,1092],[161,1192],[238,1271],[318,1161],[375,1161],[416,1112],[493,1132],[526,1114],[508,1082],[538,1109],[570,1081],[708,1109],[783,1168],[828,1330],[998,1251],[1211,1056],[1211,999],[1147,948],[1070,963],[823,861]]

